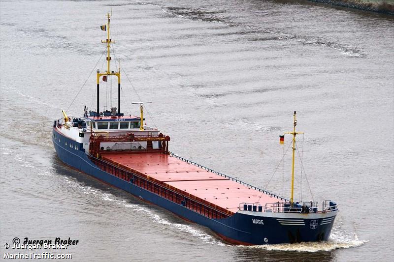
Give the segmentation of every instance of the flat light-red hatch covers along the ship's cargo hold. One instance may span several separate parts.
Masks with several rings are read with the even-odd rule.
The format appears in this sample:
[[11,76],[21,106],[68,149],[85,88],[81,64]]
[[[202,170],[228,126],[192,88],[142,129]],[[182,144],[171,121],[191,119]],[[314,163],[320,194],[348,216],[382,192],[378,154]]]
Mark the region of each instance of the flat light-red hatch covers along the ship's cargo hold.
[[259,203],[264,206],[266,203],[283,202],[164,153],[105,152],[101,157],[123,169],[147,175],[152,180],[233,213],[239,210],[240,203]]

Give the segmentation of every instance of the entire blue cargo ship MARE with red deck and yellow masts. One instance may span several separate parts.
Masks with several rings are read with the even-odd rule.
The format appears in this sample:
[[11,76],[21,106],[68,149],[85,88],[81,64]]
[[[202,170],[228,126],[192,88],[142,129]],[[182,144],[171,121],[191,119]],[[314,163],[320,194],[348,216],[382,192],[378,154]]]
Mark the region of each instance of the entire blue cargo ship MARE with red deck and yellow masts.
[[[294,200],[296,112],[292,135],[293,169],[290,199],[274,195],[214,171],[169,151],[170,137],[144,124],[139,116],[122,113],[121,68],[111,71],[110,17],[106,15],[106,70],[97,69],[96,111],[67,116],[53,124],[52,141],[59,159],[185,220],[212,230],[225,242],[263,245],[328,240],[338,212],[337,204]],[[100,112],[100,81],[118,80],[118,107]],[[82,114],[81,114],[82,115]],[[282,139],[282,136],[281,136]]]

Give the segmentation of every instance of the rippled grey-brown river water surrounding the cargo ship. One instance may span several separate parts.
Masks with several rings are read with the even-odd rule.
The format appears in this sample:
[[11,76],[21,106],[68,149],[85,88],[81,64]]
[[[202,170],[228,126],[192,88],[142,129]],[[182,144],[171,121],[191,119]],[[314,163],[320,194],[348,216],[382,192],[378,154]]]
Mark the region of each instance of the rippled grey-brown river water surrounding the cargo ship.
[[[330,241],[228,245],[60,162],[52,123],[104,69],[111,6],[132,83],[122,72],[122,111],[152,101],[147,122],[176,154],[289,197],[278,136],[297,111],[296,198],[339,204]],[[0,12],[1,257],[14,237],[59,236],[79,239],[72,261],[393,261],[393,17],[302,0],[1,1]],[[94,74],[69,115],[95,107]]]

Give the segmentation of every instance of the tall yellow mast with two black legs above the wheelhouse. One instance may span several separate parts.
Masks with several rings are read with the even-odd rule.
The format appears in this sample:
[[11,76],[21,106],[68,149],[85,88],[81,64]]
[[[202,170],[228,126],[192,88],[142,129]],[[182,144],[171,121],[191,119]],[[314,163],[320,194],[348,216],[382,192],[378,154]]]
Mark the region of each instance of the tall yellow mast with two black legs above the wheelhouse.
[[[112,11],[111,11],[112,13]],[[107,81],[108,76],[116,76],[118,77],[118,113],[116,114],[117,116],[121,116],[121,111],[120,111],[120,62],[119,62],[119,68],[118,71],[111,71],[110,66],[111,66],[111,53],[110,53],[110,48],[111,48],[111,43],[115,43],[115,41],[112,41],[110,38],[110,22],[111,22],[111,13],[107,13],[106,17],[108,19],[107,23],[103,26],[101,26],[101,30],[107,32],[107,39],[106,40],[101,40],[101,43],[106,43],[107,44],[107,70],[104,73],[100,73],[99,69],[97,70],[97,114],[100,116],[100,110],[99,110],[99,84],[100,84],[100,77],[103,77],[103,81]]]

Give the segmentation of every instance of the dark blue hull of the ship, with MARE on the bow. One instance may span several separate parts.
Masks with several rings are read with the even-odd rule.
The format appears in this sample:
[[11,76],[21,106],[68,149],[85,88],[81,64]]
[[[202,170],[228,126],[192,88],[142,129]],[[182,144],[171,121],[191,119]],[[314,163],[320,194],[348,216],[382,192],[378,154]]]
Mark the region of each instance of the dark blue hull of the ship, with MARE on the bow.
[[[56,136],[55,136],[56,134]],[[55,139],[56,137],[56,139]],[[328,240],[336,211],[329,213],[269,213],[240,210],[224,219],[201,215],[133,183],[102,171],[86,155],[83,145],[53,129],[52,141],[58,157],[66,165],[118,187],[132,195],[203,225],[233,244],[263,245]],[[67,145],[67,146],[66,146]],[[70,147],[69,145],[72,145]],[[75,149],[77,146],[77,149]],[[286,221],[303,221],[292,225]],[[282,222],[281,222],[282,221]]]

